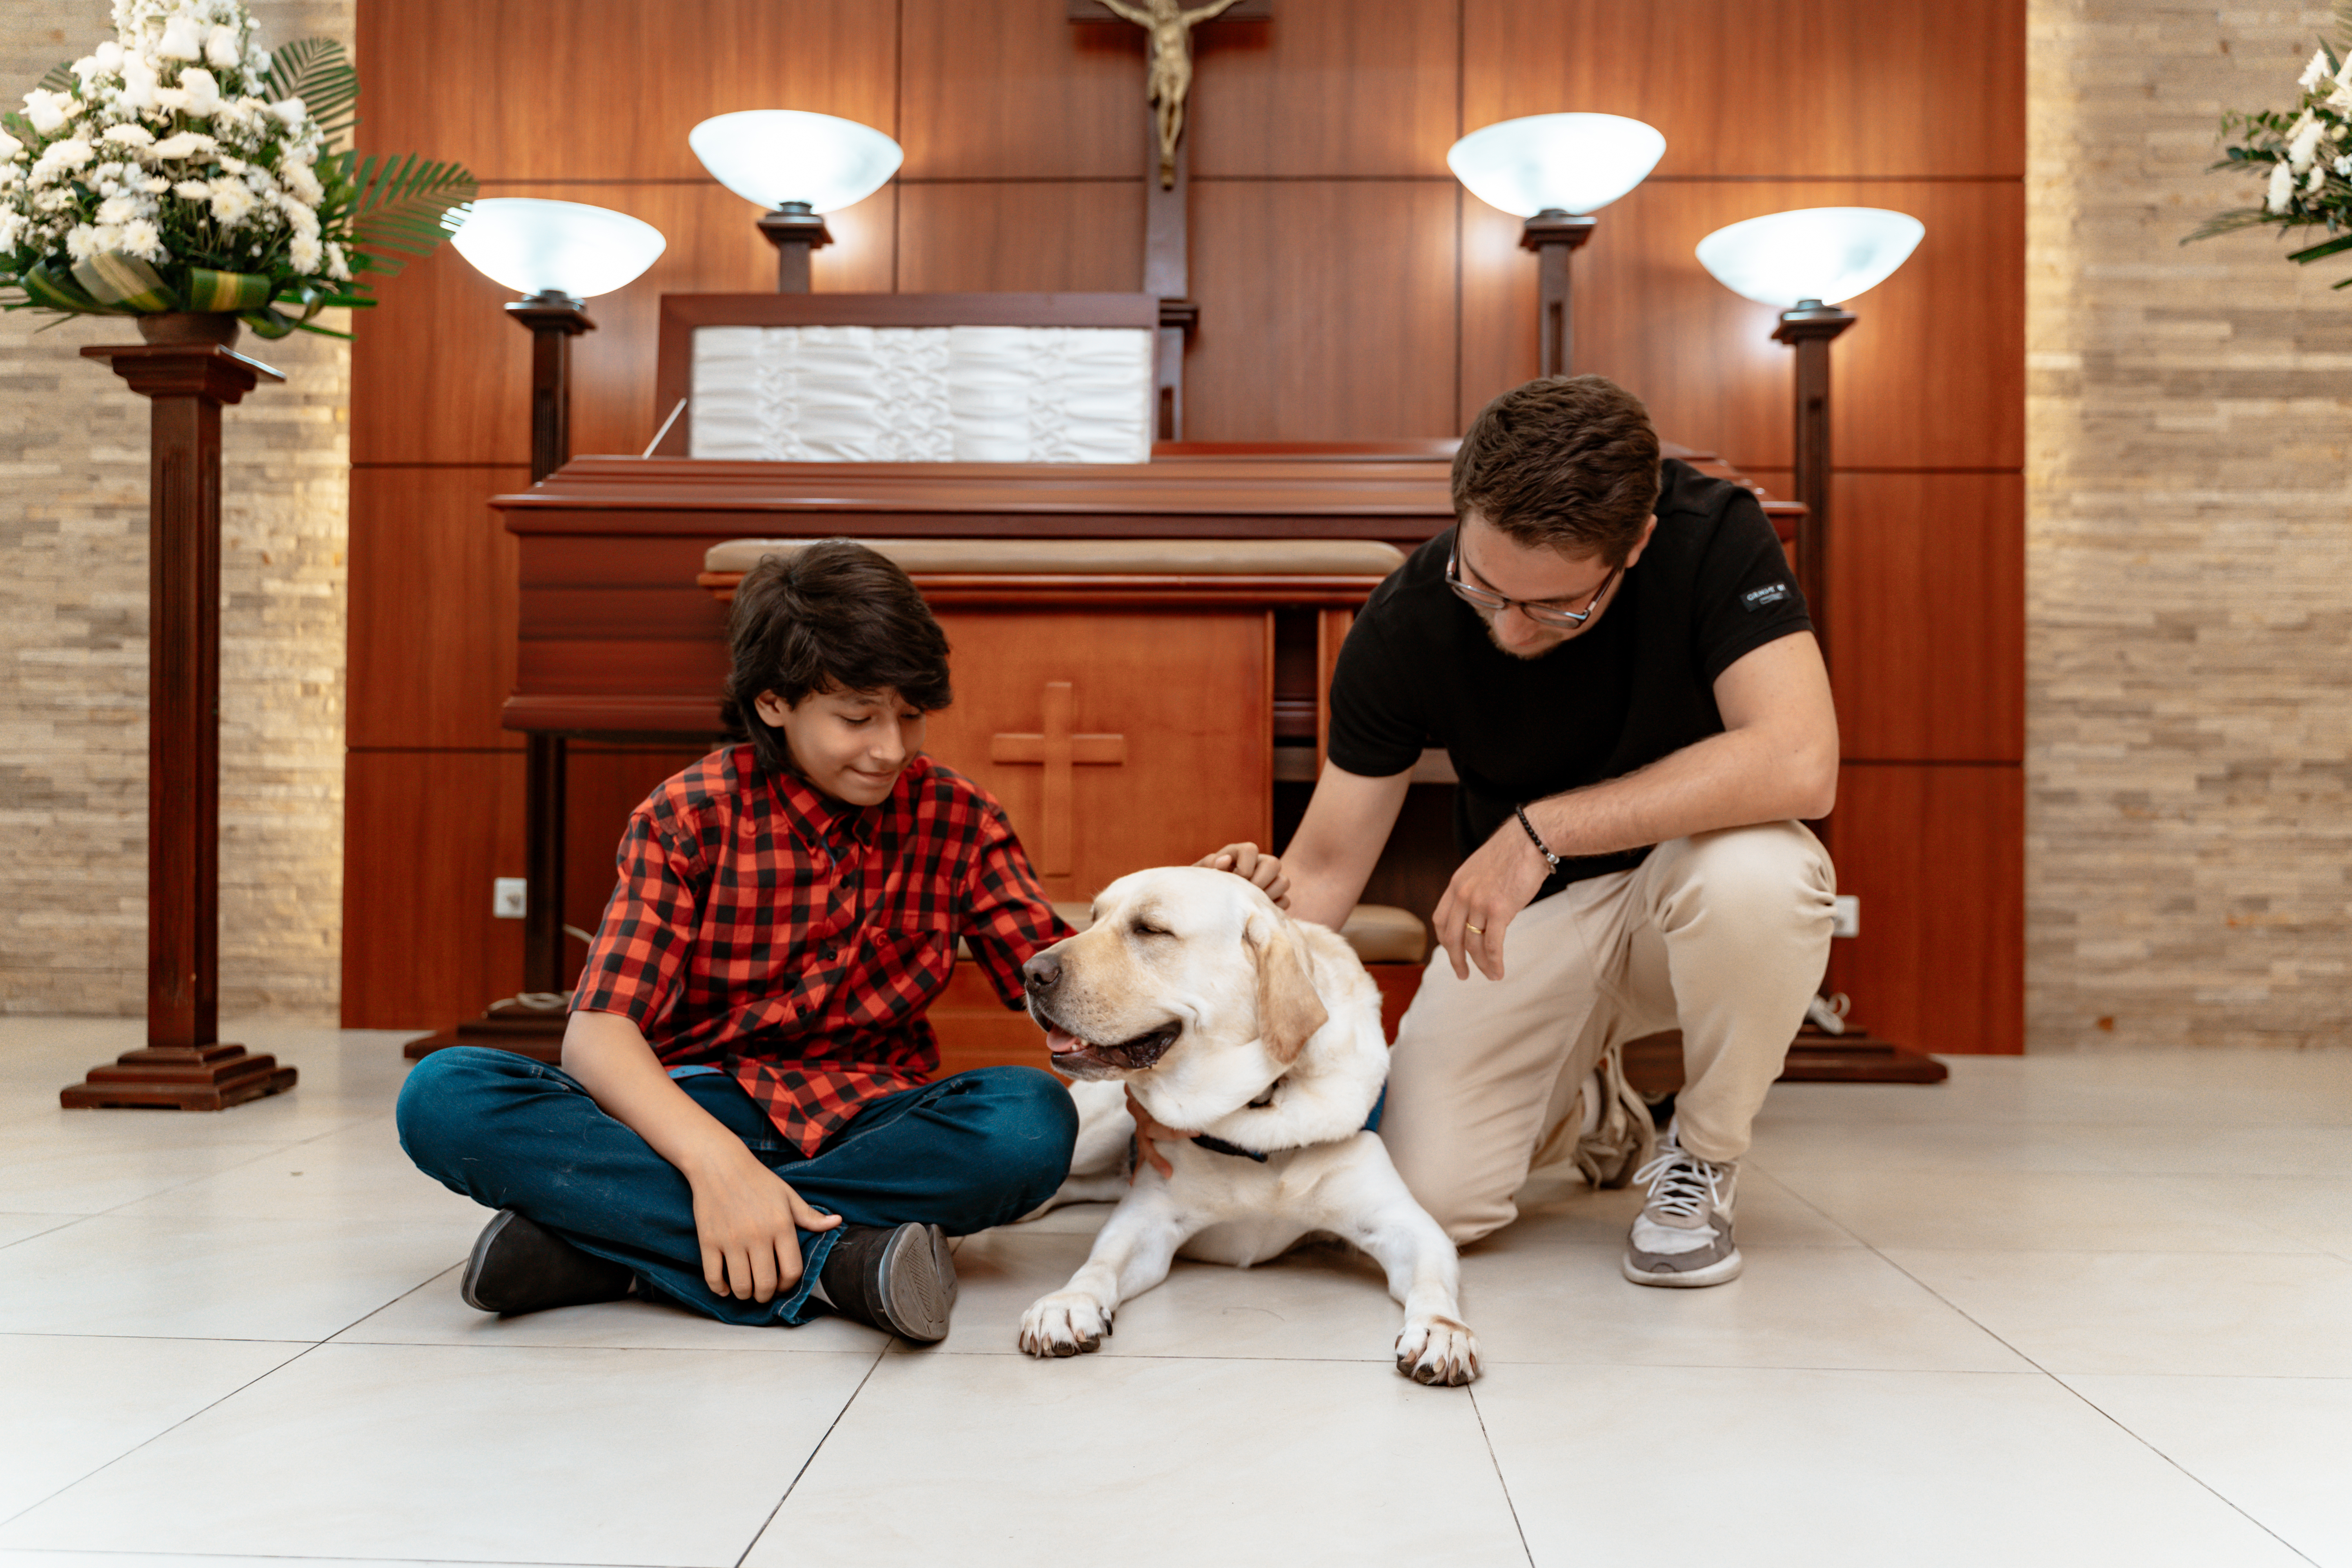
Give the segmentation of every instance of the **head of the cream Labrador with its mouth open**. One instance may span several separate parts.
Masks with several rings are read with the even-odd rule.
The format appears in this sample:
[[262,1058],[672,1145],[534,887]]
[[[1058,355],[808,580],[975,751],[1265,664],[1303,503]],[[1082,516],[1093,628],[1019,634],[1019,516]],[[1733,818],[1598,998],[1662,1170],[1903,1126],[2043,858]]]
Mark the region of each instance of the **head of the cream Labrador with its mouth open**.
[[1197,865],[1120,877],[1094,924],[1023,978],[1058,1072],[1152,1081],[1192,1117],[1247,1105],[1329,1020],[1291,919],[1247,879]]

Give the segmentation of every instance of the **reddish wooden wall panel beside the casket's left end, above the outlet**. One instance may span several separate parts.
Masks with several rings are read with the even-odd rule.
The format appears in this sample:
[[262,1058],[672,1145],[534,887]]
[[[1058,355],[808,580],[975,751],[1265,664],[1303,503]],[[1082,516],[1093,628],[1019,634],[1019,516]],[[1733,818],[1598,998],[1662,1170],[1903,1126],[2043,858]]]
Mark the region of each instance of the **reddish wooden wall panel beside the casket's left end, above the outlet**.
[[[522,745],[499,729],[515,686],[517,552],[489,496],[529,480],[529,468],[350,470],[346,745]],[[372,830],[353,799],[346,832]]]

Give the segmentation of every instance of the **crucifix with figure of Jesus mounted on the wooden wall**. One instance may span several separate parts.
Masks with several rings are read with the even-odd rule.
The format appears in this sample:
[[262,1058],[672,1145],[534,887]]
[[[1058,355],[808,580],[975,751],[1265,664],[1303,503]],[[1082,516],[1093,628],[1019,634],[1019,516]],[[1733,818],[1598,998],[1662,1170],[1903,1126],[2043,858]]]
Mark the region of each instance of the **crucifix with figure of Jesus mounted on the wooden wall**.
[[1183,440],[1183,346],[1200,324],[1185,254],[1185,99],[1192,94],[1192,28],[1207,21],[1268,21],[1272,0],[1068,0],[1070,21],[1129,21],[1143,28],[1145,66],[1145,181],[1143,292],[1160,296],[1160,367],[1155,371],[1155,437]]

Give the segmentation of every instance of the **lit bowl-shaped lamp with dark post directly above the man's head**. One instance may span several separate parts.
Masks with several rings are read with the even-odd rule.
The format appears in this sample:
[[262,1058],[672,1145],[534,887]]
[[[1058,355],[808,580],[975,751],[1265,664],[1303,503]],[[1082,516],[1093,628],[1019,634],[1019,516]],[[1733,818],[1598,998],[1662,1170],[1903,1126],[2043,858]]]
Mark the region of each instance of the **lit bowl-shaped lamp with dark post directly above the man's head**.
[[1470,195],[1526,219],[1519,244],[1536,252],[1536,367],[1566,376],[1571,360],[1569,256],[1592,237],[1592,214],[1665,158],[1665,136],[1623,115],[1529,115],[1501,120],[1446,150]]

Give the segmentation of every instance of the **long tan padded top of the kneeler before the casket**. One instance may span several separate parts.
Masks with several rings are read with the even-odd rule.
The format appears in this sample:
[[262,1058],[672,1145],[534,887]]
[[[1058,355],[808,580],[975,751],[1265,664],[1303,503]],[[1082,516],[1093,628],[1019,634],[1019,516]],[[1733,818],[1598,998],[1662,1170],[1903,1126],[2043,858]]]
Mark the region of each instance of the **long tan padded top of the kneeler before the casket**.
[[[703,552],[703,571],[750,571],[811,538],[729,538]],[[1388,576],[1404,564],[1376,538],[861,538],[910,574],[1084,576]]]

